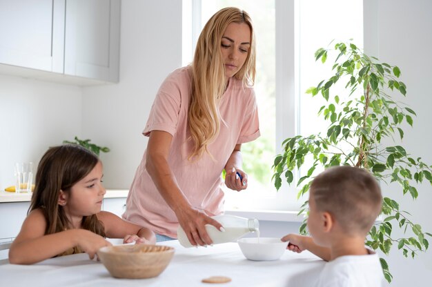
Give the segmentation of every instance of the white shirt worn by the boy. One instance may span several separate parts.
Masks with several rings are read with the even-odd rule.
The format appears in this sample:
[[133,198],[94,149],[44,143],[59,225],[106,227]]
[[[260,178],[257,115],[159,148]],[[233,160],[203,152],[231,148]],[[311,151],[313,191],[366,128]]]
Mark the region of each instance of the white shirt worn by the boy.
[[326,263],[316,287],[382,286],[384,275],[380,257],[367,249],[369,255],[345,255]]

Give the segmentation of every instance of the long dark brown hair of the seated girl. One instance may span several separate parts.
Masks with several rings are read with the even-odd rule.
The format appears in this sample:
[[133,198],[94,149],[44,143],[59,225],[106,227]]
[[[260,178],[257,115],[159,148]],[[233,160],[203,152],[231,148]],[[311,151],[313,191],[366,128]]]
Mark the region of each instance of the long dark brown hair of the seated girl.
[[[46,235],[71,227],[63,206],[58,204],[60,190],[69,192],[70,197],[72,186],[86,177],[98,162],[95,154],[75,144],[55,146],[45,152],[37,167],[28,212],[41,209],[46,219]],[[96,215],[83,217],[81,226],[105,237],[104,225]]]

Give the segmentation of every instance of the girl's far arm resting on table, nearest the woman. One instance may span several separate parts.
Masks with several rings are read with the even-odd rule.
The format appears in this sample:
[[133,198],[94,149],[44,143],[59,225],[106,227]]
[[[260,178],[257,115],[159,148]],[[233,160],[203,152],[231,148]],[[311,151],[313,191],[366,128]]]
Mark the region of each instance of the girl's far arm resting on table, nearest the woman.
[[97,214],[97,218],[104,223],[108,238],[123,238],[124,243],[132,241],[145,244],[156,243],[155,233],[152,230],[132,224],[111,212],[101,211]]

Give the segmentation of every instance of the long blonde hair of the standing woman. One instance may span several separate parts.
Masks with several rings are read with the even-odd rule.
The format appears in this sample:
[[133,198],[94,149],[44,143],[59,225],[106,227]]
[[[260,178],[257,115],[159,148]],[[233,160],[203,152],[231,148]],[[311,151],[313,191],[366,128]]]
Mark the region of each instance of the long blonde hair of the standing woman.
[[219,134],[219,98],[226,90],[222,36],[230,23],[246,23],[251,29],[251,47],[242,68],[234,75],[244,86],[255,81],[255,34],[251,17],[238,8],[224,8],[211,17],[197,41],[192,63],[192,95],[188,111],[190,137],[195,147],[190,157],[208,152],[208,143]]

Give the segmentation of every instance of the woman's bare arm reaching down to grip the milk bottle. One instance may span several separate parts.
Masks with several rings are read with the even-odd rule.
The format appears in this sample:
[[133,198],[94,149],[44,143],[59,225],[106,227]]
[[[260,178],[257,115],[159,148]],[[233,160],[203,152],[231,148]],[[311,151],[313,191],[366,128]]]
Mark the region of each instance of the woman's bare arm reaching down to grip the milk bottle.
[[168,132],[153,130],[147,145],[146,169],[153,179],[157,190],[168,206],[175,212],[180,226],[186,232],[190,244],[210,245],[213,241],[207,234],[205,225],[211,224],[217,229],[221,228],[215,219],[212,219],[192,206],[181,192],[177,180],[168,165],[168,152],[173,136]]

